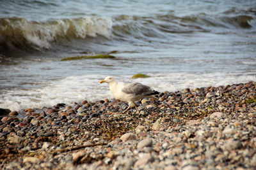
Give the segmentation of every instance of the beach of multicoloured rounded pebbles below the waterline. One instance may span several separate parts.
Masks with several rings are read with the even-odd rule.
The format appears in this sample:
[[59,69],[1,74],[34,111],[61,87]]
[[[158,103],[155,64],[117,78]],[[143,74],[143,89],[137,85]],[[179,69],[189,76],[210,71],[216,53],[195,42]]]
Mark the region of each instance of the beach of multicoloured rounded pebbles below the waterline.
[[1,169],[256,169],[256,82],[1,110]]

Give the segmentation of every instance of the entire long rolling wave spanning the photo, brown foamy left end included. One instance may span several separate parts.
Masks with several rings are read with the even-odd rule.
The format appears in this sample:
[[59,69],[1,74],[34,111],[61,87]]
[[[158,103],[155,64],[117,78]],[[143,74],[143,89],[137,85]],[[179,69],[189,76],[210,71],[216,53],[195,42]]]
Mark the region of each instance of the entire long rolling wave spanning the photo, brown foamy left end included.
[[[88,37],[97,39],[99,35],[107,39],[116,39],[118,42],[127,40],[154,42],[163,41],[168,36],[170,39],[173,34],[240,32],[241,29],[255,31],[253,29],[255,27],[256,17],[248,13],[232,13],[232,15],[230,13],[218,15],[200,13],[183,17],[177,17],[173,13],[151,17],[92,16],[54,19],[45,22],[29,21],[17,17],[0,18],[0,53],[10,52],[13,49],[42,51],[54,48],[53,45],[66,45],[67,41],[73,39],[87,40]],[[78,43],[78,46],[83,47],[83,43]]]

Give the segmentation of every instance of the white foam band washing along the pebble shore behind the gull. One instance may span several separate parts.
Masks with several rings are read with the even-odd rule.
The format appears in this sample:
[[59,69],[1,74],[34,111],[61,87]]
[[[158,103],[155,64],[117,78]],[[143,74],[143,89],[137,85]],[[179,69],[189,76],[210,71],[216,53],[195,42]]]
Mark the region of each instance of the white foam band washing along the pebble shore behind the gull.
[[[99,84],[106,75],[69,76],[60,81],[54,81],[42,89],[10,90],[0,95],[0,108],[22,110],[26,108],[42,108],[54,106],[57,103],[71,104],[83,100],[96,101],[113,99],[107,84]],[[175,92],[182,89],[197,87],[218,87],[233,83],[256,81],[256,76],[223,73],[172,73],[150,74],[150,78],[131,80],[131,75],[116,76],[118,81],[137,81],[149,85],[159,92]]]

